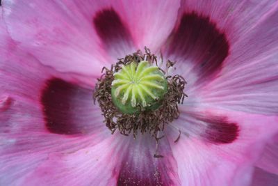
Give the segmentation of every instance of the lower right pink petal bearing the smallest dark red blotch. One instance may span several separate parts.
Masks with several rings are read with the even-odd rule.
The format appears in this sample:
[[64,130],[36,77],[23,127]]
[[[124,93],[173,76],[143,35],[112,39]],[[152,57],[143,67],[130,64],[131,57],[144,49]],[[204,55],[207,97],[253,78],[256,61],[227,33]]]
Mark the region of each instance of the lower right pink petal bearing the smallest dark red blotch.
[[[204,119],[195,118],[191,124],[183,118],[174,121],[171,124],[174,127],[167,131],[166,137],[170,141],[174,159],[179,162],[178,173],[181,183],[183,185],[250,183],[252,165],[259,159],[266,141],[278,130],[276,125],[278,118],[213,109],[199,111],[198,116],[203,116],[207,120],[210,120],[211,116],[224,117],[227,123],[238,125],[238,136],[233,141],[228,140],[230,138],[224,134],[234,132],[226,130],[225,125],[220,127],[219,123],[218,128],[212,129],[215,133],[207,133],[207,127],[213,124],[211,120],[206,123]],[[174,143],[179,134],[178,130],[181,130],[181,137]]]

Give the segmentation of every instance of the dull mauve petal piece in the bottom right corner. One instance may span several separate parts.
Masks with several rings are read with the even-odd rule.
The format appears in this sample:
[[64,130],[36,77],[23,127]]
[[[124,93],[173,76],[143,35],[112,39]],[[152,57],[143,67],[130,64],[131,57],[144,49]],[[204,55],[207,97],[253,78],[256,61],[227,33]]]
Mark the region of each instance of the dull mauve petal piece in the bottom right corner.
[[277,174],[268,173],[263,169],[256,168],[253,173],[251,186],[276,186],[278,183]]

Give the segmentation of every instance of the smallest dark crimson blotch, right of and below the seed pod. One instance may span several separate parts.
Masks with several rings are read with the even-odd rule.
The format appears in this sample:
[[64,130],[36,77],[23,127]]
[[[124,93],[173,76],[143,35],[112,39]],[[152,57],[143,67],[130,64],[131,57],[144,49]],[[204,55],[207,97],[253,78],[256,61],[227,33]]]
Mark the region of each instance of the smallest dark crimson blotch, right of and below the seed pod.
[[224,117],[208,116],[202,121],[208,125],[204,132],[204,139],[213,144],[230,144],[238,138],[238,125],[231,123]]

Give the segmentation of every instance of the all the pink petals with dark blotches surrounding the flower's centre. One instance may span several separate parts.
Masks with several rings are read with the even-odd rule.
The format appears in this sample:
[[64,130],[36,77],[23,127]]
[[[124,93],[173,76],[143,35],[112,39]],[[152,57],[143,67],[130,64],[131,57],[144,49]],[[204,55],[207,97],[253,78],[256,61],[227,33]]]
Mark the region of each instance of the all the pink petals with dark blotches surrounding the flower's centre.
[[[277,185],[277,1],[0,8],[0,185]],[[92,104],[101,68],[145,46],[188,82],[163,158]]]

